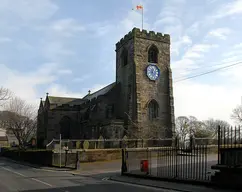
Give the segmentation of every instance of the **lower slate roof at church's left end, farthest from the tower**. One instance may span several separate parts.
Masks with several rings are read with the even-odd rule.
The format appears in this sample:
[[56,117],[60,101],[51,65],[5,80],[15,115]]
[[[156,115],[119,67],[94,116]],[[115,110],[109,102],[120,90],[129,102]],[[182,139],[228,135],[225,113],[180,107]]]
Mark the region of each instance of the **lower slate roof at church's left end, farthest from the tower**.
[[55,96],[48,96],[50,104],[69,104],[69,105],[80,105],[84,102],[83,99],[80,98],[70,98],[70,97],[55,97]]

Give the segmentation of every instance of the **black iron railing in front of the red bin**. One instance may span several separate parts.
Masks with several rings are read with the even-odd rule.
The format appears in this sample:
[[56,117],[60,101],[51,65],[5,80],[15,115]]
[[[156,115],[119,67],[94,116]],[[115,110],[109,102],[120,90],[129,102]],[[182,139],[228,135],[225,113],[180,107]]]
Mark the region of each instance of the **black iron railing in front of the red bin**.
[[207,145],[123,149],[122,174],[208,183],[216,162],[217,156],[208,154]]

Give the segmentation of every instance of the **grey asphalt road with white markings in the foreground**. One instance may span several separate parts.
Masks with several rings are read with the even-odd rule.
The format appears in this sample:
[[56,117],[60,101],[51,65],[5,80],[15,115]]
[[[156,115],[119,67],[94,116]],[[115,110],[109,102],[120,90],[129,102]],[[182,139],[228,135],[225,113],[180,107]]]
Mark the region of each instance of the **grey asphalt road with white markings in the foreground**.
[[155,190],[176,192],[108,181],[105,177],[111,176],[110,174],[76,176],[69,172],[48,171],[19,165],[0,157],[1,192],[148,192]]

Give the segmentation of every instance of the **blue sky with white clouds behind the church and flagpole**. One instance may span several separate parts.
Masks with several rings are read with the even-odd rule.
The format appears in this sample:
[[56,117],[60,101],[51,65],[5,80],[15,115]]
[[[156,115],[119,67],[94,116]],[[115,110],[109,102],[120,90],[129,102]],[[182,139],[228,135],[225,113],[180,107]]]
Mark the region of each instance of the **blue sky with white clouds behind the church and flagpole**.
[[115,81],[115,44],[133,27],[171,35],[175,115],[232,123],[241,104],[242,0],[1,0],[0,86],[39,104]]

